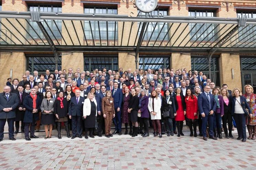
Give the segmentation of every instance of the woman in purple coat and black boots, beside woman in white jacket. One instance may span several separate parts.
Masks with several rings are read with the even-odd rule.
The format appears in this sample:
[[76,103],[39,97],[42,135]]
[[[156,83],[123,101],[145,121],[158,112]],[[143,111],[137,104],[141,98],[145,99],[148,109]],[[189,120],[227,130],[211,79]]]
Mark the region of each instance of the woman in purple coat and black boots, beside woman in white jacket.
[[139,110],[138,113],[141,113],[141,119],[144,125],[144,134],[142,134],[142,137],[147,137],[149,136],[148,133],[148,118],[149,118],[149,113],[148,113],[148,96],[146,96],[146,90],[141,89],[140,93],[140,101],[139,101]]

